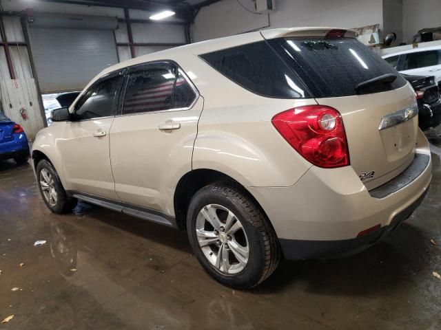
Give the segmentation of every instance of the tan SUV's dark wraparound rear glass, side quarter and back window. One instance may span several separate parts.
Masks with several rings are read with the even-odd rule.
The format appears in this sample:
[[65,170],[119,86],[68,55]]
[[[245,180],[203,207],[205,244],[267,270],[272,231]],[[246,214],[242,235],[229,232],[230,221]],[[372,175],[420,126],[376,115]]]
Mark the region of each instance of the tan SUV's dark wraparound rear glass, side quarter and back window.
[[[272,98],[331,98],[397,89],[406,80],[352,38],[271,39],[201,55],[238,85]],[[396,74],[389,85],[356,91],[360,83]]]

